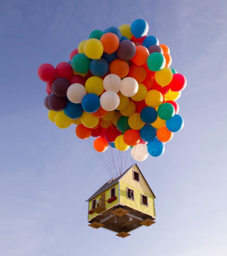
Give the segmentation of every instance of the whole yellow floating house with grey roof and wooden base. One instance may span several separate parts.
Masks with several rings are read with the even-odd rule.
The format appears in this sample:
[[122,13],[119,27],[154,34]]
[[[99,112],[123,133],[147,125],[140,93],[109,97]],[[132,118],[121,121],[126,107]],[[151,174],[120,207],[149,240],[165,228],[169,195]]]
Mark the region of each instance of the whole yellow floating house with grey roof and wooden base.
[[155,195],[137,165],[128,168],[97,190],[89,201],[88,222],[93,228],[106,228],[116,236],[154,224]]

